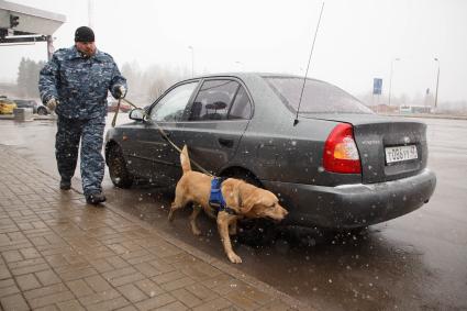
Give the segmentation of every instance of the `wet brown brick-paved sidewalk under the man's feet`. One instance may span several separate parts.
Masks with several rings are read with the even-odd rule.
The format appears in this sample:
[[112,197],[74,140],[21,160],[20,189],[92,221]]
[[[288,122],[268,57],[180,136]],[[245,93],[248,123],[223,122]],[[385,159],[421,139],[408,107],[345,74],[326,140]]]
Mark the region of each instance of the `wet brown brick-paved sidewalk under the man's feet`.
[[0,145],[0,309],[305,310]]

